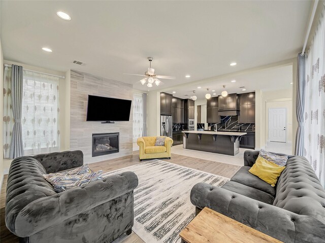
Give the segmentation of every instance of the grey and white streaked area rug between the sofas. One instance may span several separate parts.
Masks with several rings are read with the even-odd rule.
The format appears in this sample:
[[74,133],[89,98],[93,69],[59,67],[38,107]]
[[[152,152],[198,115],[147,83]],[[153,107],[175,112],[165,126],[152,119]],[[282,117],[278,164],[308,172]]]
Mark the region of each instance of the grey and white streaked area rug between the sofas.
[[107,172],[104,177],[133,171],[139,178],[134,191],[133,231],[145,242],[181,242],[180,231],[194,218],[191,188],[205,182],[222,186],[229,178],[154,159]]

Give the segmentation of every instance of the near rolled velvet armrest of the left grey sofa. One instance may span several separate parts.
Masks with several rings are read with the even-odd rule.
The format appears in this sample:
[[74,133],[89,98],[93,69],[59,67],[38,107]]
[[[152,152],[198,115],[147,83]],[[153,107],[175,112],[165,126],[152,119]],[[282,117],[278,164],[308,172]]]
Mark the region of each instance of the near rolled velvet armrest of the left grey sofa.
[[133,172],[124,172],[56,195],[39,198],[18,213],[11,224],[14,228],[10,230],[20,237],[30,236],[116,197],[130,193],[137,186],[137,175]]

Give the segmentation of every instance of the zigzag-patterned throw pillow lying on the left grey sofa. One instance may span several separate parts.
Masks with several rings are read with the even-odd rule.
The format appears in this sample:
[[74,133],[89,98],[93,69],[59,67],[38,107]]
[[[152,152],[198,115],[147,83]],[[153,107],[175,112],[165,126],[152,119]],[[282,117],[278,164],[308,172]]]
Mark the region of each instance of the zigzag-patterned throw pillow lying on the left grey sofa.
[[87,164],[71,171],[44,174],[43,177],[53,186],[56,192],[86,185],[89,182],[103,179],[103,171],[93,172]]

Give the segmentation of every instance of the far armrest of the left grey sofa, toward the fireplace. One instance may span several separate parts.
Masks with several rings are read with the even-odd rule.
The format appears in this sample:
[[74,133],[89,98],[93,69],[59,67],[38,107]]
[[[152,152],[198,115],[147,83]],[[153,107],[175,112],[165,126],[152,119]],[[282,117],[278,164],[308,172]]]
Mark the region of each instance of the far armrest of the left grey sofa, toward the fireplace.
[[46,173],[56,173],[83,165],[81,150],[38,154],[33,157],[40,161]]

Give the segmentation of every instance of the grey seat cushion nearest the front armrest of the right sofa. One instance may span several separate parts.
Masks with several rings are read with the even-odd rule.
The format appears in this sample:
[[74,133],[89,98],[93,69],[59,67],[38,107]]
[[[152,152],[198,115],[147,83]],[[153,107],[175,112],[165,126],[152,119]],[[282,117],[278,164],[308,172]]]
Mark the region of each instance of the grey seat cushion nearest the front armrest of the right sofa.
[[255,188],[245,186],[243,184],[234,182],[234,181],[229,181],[226,182],[223,186],[221,186],[223,189],[227,189],[232,192],[236,192],[238,194],[241,194],[243,196],[250,197],[252,199],[262,201],[263,203],[266,204],[273,204],[274,197],[271,196],[270,194],[257,190]]

